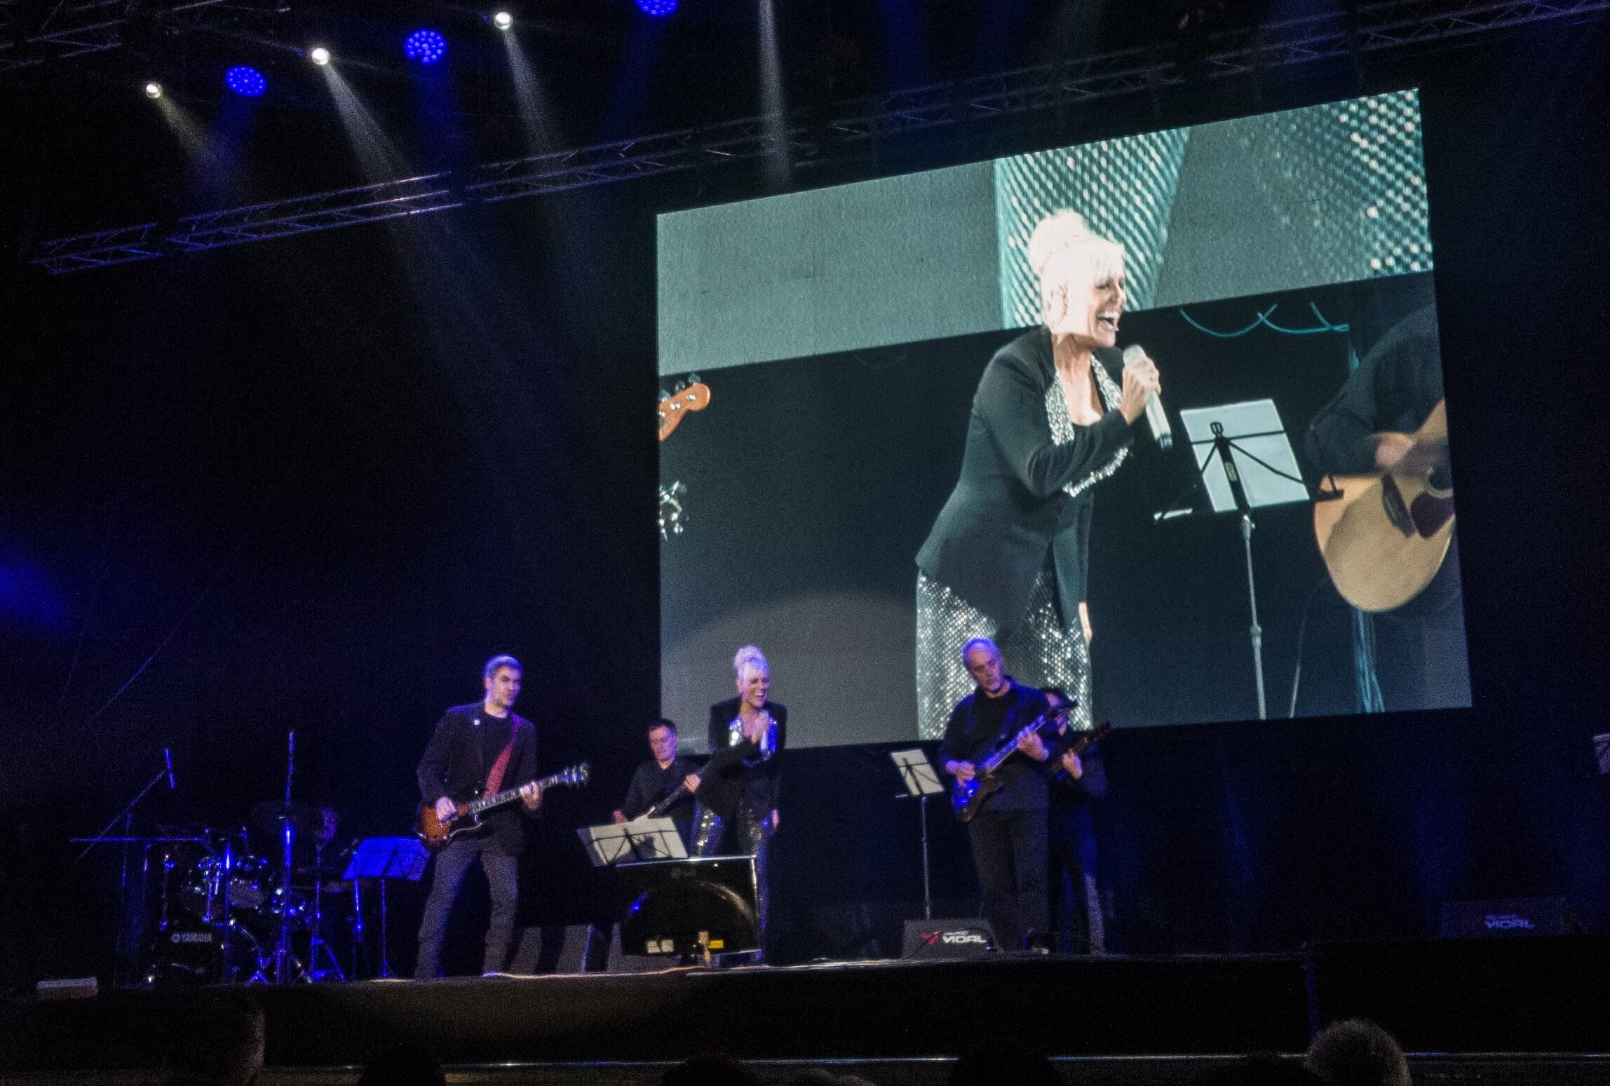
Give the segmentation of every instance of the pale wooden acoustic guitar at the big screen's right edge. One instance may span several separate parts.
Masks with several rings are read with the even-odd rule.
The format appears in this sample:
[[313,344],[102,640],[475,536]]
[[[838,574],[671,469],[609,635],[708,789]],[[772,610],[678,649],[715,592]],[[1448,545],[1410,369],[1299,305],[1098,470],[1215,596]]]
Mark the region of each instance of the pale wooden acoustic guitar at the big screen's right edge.
[[[1447,455],[1443,401],[1414,444],[1438,462]],[[1425,470],[1328,478],[1341,499],[1314,504],[1314,537],[1341,597],[1360,611],[1389,611],[1420,595],[1454,539],[1454,491],[1431,486]]]

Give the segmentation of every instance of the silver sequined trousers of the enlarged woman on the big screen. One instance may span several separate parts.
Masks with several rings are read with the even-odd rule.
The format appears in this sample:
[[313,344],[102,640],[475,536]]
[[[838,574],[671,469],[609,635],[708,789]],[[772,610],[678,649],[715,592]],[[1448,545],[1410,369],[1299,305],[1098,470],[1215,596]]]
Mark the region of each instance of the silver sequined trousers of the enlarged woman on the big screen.
[[972,677],[961,664],[961,647],[989,637],[1001,648],[1006,673],[1029,687],[1063,687],[1079,698],[1069,721],[1090,727],[1090,647],[1079,616],[1063,621],[1056,605],[1056,576],[1042,570],[1029,594],[1029,613],[1013,631],[968,603],[948,587],[916,574],[916,713],[918,735],[942,738],[956,701],[972,693]]

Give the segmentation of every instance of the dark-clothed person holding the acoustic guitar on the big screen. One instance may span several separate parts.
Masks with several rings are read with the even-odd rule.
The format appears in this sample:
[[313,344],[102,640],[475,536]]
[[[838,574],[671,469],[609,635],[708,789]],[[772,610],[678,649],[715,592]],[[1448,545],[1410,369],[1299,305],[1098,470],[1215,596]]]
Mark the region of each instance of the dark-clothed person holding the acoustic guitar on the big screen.
[[[1307,455],[1322,475],[1385,471],[1426,478],[1452,494],[1446,442],[1412,434],[1441,415],[1443,362],[1436,307],[1426,304],[1391,325],[1307,428]],[[1465,607],[1454,529],[1431,581],[1396,608],[1365,615],[1375,626],[1375,663],[1386,710],[1470,705]]]

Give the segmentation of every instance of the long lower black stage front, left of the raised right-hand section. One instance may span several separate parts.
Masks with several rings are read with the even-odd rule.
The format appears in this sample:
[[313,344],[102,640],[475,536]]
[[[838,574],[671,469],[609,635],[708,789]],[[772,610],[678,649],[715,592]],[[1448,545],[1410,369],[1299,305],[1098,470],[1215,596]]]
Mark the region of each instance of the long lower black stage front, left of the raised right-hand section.
[[[422,1044],[448,1063],[955,1055],[1038,1023],[1061,1054],[1246,1052],[1307,1043],[1296,956],[982,959],[636,975],[254,988],[270,1065],[364,1063]],[[13,1006],[11,1070],[137,1068],[185,993]]]

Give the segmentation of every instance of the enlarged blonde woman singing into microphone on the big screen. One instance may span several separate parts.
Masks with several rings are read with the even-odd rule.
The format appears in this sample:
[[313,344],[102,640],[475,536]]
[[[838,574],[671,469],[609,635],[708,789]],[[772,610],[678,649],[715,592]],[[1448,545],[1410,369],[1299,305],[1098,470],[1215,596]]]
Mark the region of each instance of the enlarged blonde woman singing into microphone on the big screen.
[[[1124,248],[1072,211],[1035,227],[1029,265],[1043,325],[995,352],[968,418],[961,478],[916,555],[916,697],[924,738],[945,732],[971,677],[961,647],[1001,645],[1029,685],[1058,685],[1090,727],[1090,510],[1159,393],[1143,351],[1116,349]],[[1114,372],[1122,365],[1122,373]]]

